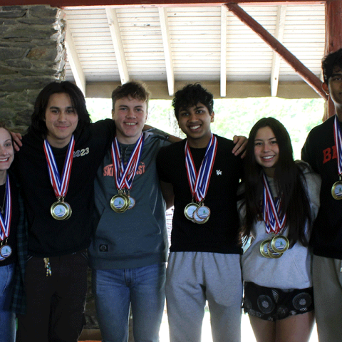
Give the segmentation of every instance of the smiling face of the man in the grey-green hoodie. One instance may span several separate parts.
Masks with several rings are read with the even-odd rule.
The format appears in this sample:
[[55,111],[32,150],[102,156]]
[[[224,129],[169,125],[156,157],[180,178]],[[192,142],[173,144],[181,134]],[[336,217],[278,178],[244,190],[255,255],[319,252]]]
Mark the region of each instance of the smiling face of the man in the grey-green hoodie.
[[112,110],[116,125],[116,138],[123,144],[135,144],[147,120],[147,103],[143,100],[118,98]]

